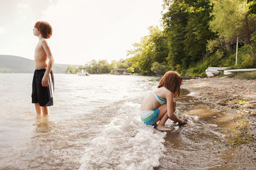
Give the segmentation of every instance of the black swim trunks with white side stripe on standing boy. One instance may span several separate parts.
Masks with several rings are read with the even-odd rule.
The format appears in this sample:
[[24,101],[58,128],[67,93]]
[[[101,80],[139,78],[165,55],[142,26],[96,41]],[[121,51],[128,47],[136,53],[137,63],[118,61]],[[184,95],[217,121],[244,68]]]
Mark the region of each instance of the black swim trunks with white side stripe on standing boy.
[[[38,103],[40,106],[47,107],[53,105],[52,99],[52,84],[54,84],[53,73],[51,71],[51,77],[49,76],[49,85],[47,87],[42,86],[42,79],[44,77],[46,68],[38,68],[34,72],[32,82],[32,103]],[[52,81],[52,84],[51,84]]]

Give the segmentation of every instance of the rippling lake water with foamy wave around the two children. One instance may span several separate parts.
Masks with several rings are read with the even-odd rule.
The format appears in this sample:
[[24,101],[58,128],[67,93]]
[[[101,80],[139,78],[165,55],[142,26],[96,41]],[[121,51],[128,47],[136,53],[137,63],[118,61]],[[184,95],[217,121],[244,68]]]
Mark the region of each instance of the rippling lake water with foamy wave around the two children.
[[188,91],[176,112],[188,124],[168,120],[174,130],[166,133],[140,120],[140,102],[157,85],[152,77],[54,78],[54,105],[44,118],[31,104],[33,74],[0,74],[0,169],[230,168],[223,128],[231,121],[217,121],[227,114]]

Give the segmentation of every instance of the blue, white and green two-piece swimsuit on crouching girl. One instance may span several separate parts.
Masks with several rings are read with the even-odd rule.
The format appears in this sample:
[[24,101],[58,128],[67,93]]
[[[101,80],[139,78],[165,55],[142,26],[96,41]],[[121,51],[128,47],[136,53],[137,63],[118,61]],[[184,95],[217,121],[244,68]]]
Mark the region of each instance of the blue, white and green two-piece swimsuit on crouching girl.
[[[166,98],[159,97],[158,95],[156,95],[156,93],[162,92],[162,91],[168,91],[168,89],[156,91],[155,93],[151,92],[156,97],[159,104],[161,105],[166,104]],[[145,123],[146,125],[152,125],[157,120],[158,116],[159,116],[158,108],[156,108],[154,111],[148,110],[148,111],[140,112],[141,121],[143,121],[143,123]]]

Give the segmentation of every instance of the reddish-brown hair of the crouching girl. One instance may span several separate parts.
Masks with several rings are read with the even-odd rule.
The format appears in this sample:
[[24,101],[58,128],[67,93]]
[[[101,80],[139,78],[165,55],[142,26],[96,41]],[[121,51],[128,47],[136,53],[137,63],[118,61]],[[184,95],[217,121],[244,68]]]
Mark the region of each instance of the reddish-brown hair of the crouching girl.
[[180,96],[180,86],[182,84],[182,77],[177,72],[168,71],[160,80],[157,88],[164,87],[172,91],[174,97]]

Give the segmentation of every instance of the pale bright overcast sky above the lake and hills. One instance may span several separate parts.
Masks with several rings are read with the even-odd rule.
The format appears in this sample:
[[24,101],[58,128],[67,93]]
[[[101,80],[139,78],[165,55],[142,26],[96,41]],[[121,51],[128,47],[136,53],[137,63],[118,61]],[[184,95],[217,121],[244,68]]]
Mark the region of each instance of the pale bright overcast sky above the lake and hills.
[[127,50],[160,26],[163,0],[0,0],[0,54],[34,58],[38,20],[52,26],[55,63],[126,59]]

